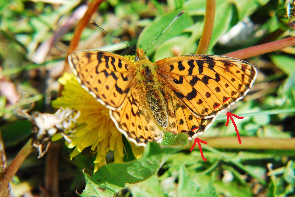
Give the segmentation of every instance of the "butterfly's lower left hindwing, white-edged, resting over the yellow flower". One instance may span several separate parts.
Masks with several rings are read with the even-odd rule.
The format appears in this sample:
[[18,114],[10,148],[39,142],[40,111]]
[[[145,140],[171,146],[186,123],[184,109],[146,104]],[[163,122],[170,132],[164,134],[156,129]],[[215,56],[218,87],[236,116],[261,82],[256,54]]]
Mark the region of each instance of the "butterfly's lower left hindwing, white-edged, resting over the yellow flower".
[[152,112],[146,99],[141,97],[142,91],[133,88],[120,110],[110,110],[111,119],[128,140],[138,146],[148,142],[160,142],[162,131],[155,125]]

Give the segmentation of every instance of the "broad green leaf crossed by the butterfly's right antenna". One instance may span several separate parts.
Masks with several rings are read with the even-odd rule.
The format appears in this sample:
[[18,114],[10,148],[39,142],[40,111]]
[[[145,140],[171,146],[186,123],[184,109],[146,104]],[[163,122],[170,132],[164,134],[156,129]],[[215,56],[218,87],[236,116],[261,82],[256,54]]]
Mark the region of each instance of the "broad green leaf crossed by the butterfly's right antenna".
[[[163,30],[171,23],[177,14],[179,14],[182,10],[176,10],[170,12],[165,15],[161,15],[157,17],[148,27],[146,27],[139,35],[137,41],[137,47],[143,48],[143,50],[147,50],[148,46],[163,32]],[[190,27],[193,24],[191,17],[184,13],[182,14],[168,29],[167,31],[161,35],[157,41],[150,47],[147,52],[147,55],[150,56],[155,52],[163,42],[166,40],[178,36],[181,32]]]

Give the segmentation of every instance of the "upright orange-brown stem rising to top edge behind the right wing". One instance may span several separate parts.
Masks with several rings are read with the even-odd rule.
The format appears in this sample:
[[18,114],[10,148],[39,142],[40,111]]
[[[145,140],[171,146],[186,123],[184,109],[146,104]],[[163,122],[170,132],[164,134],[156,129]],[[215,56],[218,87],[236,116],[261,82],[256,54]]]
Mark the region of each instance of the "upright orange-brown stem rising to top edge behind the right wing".
[[195,54],[206,54],[214,26],[215,0],[206,0],[206,13],[201,39]]

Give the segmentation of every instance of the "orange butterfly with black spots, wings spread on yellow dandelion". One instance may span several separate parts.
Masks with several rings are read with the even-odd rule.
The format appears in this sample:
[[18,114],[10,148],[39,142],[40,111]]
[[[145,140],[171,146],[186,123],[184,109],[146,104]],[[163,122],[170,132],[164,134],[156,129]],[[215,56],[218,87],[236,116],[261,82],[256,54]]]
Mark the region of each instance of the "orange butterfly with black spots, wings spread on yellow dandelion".
[[138,48],[133,63],[106,51],[72,52],[68,62],[81,86],[136,145],[160,142],[163,132],[204,133],[217,115],[241,100],[256,69],[240,59],[182,55],[150,62]]

